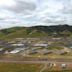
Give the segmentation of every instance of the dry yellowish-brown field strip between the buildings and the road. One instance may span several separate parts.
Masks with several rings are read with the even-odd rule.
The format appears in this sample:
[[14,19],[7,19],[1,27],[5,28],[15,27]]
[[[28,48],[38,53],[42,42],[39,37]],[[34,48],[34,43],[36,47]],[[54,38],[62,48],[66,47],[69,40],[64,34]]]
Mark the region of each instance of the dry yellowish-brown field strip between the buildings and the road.
[[23,60],[39,60],[39,59],[64,59],[64,60],[72,60],[72,56],[66,56],[66,55],[56,55],[56,54],[49,54],[49,55],[26,55],[26,56],[22,56],[22,55],[18,55],[18,54],[7,54],[7,55],[0,55],[0,59],[4,59],[4,60],[19,60],[19,61],[23,61]]

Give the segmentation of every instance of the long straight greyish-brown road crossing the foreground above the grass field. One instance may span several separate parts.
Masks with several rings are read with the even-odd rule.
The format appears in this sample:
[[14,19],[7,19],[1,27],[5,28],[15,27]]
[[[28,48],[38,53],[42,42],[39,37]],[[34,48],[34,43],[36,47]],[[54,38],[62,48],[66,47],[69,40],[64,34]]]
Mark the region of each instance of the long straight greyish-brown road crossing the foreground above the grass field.
[[66,64],[72,64],[71,61],[9,61],[9,60],[0,60],[0,62],[5,62],[5,63],[24,63],[24,64],[45,64],[45,63],[66,63]]

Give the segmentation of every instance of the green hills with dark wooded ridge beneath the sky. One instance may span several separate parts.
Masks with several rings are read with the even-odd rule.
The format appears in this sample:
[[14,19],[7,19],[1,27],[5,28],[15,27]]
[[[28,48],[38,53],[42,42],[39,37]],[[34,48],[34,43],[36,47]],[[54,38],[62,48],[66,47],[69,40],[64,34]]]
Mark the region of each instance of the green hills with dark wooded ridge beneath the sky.
[[0,39],[12,39],[23,37],[48,37],[48,36],[69,36],[72,34],[72,26],[33,26],[33,27],[12,27],[0,30]]

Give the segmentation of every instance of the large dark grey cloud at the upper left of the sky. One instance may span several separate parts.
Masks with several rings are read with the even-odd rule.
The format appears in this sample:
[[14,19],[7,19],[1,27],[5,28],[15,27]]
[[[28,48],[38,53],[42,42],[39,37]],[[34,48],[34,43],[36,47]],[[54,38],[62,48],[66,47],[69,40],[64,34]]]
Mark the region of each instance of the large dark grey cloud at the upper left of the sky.
[[36,6],[33,2],[27,2],[24,0],[15,0],[16,5],[13,7],[7,7],[8,10],[16,12],[16,13],[23,13],[23,14],[28,14],[30,12],[28,11],[33,11],[35,10]]

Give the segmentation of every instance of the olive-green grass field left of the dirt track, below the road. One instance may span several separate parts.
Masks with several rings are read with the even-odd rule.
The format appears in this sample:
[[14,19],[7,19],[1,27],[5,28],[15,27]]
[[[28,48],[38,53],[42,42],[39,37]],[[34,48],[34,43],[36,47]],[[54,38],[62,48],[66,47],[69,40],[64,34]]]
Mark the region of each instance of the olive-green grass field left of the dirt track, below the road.
[[0,63],[0,72],[39,72],[40,64]]

